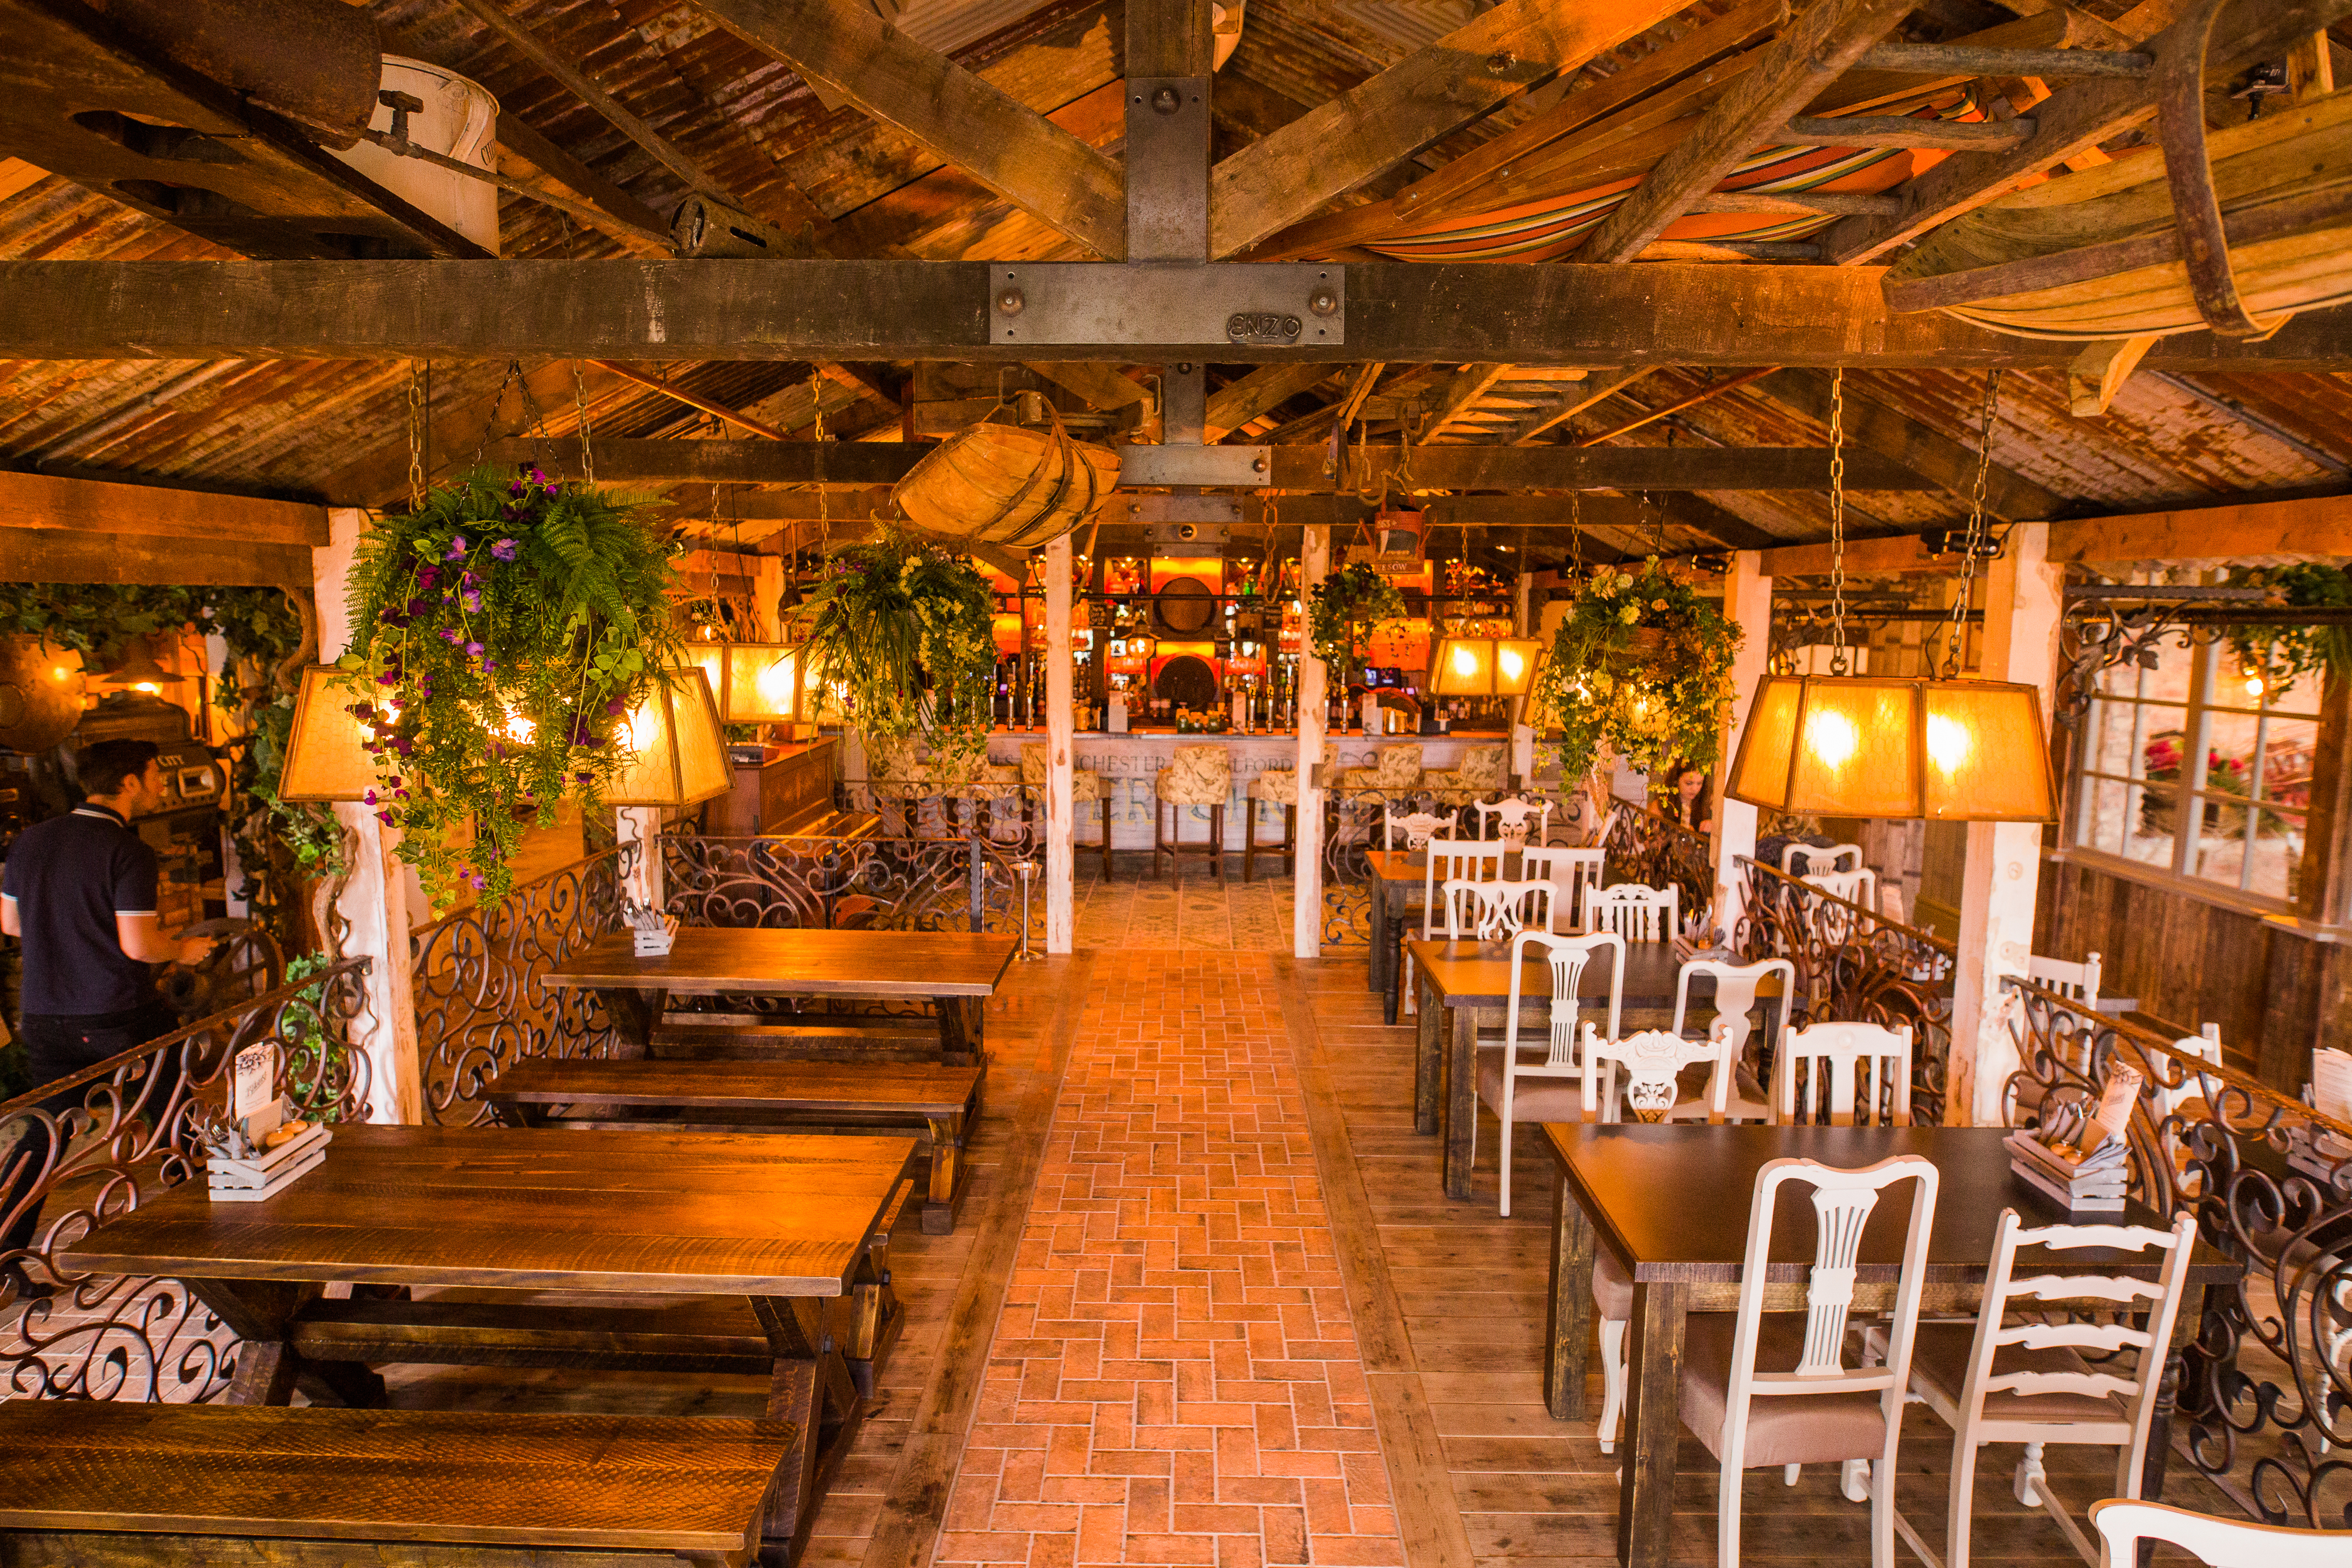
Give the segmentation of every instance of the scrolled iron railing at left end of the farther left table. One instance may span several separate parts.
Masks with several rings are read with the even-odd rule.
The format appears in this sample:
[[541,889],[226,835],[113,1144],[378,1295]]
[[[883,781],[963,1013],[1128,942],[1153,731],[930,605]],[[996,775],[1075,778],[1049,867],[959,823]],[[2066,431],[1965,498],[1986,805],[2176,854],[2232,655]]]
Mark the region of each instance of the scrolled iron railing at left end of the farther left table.
[[633,853],[607,849],[409,936],[426,1121],[485,1121],[482,1086],[510,1063],[612,1056],[621,1037],[602,999],[548,973],[621,929]]

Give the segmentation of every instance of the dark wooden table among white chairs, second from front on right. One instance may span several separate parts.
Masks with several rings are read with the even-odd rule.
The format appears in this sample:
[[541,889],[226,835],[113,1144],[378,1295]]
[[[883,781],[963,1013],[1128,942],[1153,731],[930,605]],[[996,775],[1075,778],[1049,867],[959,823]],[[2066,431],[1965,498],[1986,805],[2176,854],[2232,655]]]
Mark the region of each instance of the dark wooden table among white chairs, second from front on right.
[[[1418,1039],[1414,1051],[1414,1131],[1444,1131],[1444,1187],[1449,1199],[1470,1197],[1470,1150],[1477,1128],[1477,1030],[1479,1016],[1510,1006],[1510,943],[1421,940],[1404,943],[1414,959],[1418,992]],[[1675,1006],[1682,959],[1672,943],[1625,943],[1623,1006],[1663,1011]],[[1609,964],[1585,964],[1576,994],[1597,999],[1597,1023],[1609,1027]],[[1524,964],[1522,1004],[1550,1009],[1552,971]],[[1766,1013],[1771,1016],[1771,1013]],[[1769,1039],[1766,1027],[1766,1039]],[[1548,1041],[1550,1025],[1536,1025],[1529,1044]]]

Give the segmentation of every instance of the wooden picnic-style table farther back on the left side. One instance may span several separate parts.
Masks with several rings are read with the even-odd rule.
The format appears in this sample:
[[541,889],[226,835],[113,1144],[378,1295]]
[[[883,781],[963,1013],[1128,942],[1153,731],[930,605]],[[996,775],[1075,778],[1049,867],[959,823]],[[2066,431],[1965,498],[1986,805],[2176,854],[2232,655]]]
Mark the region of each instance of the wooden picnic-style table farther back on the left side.
[[666,954],[637,957],[633,936],[616,931],[548,971],[548,985],[597,992],[640,1048],[652,1046],[670,994],[929,1001],[943,1058],[974,1063],[988,997],[1016,950],[1009,936],[969,931],[680,926]]

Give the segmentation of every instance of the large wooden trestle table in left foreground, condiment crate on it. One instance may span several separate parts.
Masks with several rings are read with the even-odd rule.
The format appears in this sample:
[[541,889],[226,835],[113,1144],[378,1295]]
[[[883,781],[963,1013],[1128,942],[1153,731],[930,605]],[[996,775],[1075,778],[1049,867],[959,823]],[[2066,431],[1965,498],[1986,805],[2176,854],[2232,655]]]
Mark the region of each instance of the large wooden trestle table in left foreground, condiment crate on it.
[[381,1406],[369,1363],[402,1361],[760,1375],[795,1427],[767,1535],[797,1542],[863,1413],[840,1298],[880,1288],[868,1241],[913,1159],[913,1138],[339,1126],[273,1197],[216,1204],[198,1175],[59,1260],[188,1281],[242,1340],[228,1403]]

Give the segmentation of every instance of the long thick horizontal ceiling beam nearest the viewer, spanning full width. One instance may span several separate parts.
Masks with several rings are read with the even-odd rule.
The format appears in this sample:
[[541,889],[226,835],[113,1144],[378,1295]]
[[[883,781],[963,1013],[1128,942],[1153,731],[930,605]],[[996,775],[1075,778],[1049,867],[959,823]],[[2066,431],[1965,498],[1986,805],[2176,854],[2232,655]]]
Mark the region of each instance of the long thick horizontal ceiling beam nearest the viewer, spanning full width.
[[[16,360],[1101,360],[995,343],[983,261],[0,261]],[[2067,343],[1886,308],[1875,268],[1348,263],[1345,341],[1129,343],[1136,362],[2065,367]],[[2150,369],[2340,371],[2352,310],[2263,343],[2169,336]]]

